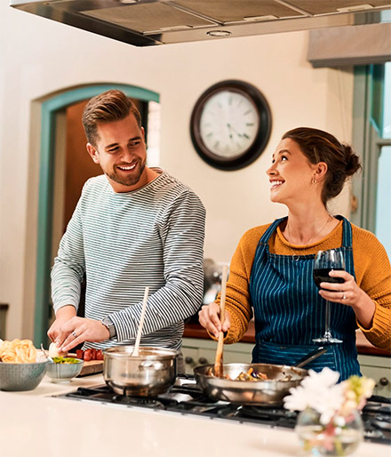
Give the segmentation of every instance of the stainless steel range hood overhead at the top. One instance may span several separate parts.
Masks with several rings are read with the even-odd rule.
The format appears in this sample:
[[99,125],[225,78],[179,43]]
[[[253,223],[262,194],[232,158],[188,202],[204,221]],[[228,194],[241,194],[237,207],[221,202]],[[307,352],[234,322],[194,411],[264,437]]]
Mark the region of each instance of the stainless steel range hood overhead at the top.
[[390,0],[11,0],[25,12],[136,46],[373,24]]

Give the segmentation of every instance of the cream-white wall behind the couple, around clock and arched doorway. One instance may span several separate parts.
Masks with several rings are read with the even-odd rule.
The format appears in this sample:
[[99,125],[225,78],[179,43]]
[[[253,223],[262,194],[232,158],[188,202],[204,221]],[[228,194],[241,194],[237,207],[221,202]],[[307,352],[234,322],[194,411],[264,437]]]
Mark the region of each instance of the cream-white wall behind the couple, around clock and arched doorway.
[[[32,335],[39,100],[81,84],[124,83],[159,92],[161,161],[201,196],[205,256],[229,261],[246,229],[285,214],[269,202],[265,170],[283,132],[314,126],[350,140],[353,75],[313,69],[307,32],[136,48],[0,3],[0,302],[11,305],[8,338]],[[195,154],[188,124],[197,97],[237,78],[267,98],[273,129],[250,166],[220,172]],[[84,151],[81,151],[83,154]],[[347,214],[348,189],[335,205]]]

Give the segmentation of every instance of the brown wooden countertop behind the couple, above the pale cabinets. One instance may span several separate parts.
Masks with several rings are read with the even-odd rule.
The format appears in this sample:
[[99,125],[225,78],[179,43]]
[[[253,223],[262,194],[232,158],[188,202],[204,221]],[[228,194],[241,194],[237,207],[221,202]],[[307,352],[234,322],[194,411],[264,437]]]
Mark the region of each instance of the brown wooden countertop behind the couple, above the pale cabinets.
[[[199,324],[186,324],[185,332],[183,333],[184,338],[201,338],[203,340],[209,340],[211,337]],[[360,330],[355,333],[356,347],[359,354],[367,354],[370,356],[383,356],[391,357],[391,351],[387,349],[375,348],[370,341],[368,341]],[[244,333],[241,342],[255,343],[255,327],[254,322],[249,322],[247,332]]]

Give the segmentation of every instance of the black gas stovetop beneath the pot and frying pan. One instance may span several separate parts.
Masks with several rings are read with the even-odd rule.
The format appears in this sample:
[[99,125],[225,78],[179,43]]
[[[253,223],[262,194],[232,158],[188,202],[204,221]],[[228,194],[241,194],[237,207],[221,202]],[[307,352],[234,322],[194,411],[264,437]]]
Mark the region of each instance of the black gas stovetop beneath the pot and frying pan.
[[[100,402],[103,405],[123,405],[127,408],[150,408],[172,413],[191,414],[216,420],[237,421],[260,426],[294,429],[298,413],[283,405],[236,405],[206,397],[190,375],[182,375],[164,394],[157,397],[118,395],[107,385],[79,388],[59,396],[79,401]],[[373,396],[363,408],[364,439],[391,445],[391,399]]]

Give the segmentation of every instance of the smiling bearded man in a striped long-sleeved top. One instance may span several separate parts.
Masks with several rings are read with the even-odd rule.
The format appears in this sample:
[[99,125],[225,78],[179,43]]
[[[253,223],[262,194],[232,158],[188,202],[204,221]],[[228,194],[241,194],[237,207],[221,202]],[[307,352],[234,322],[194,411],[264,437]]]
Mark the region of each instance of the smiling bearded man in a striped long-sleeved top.
[[[195,193],[148,168],[140,112],[111,90],[84,108],[87,151],[104,174],[87,180],[52,268],[60,351],[134,344],[145,287],[144,346],[180,349],[203,295],[205,211]],[[86,275],[85,317],[76,317]]]

